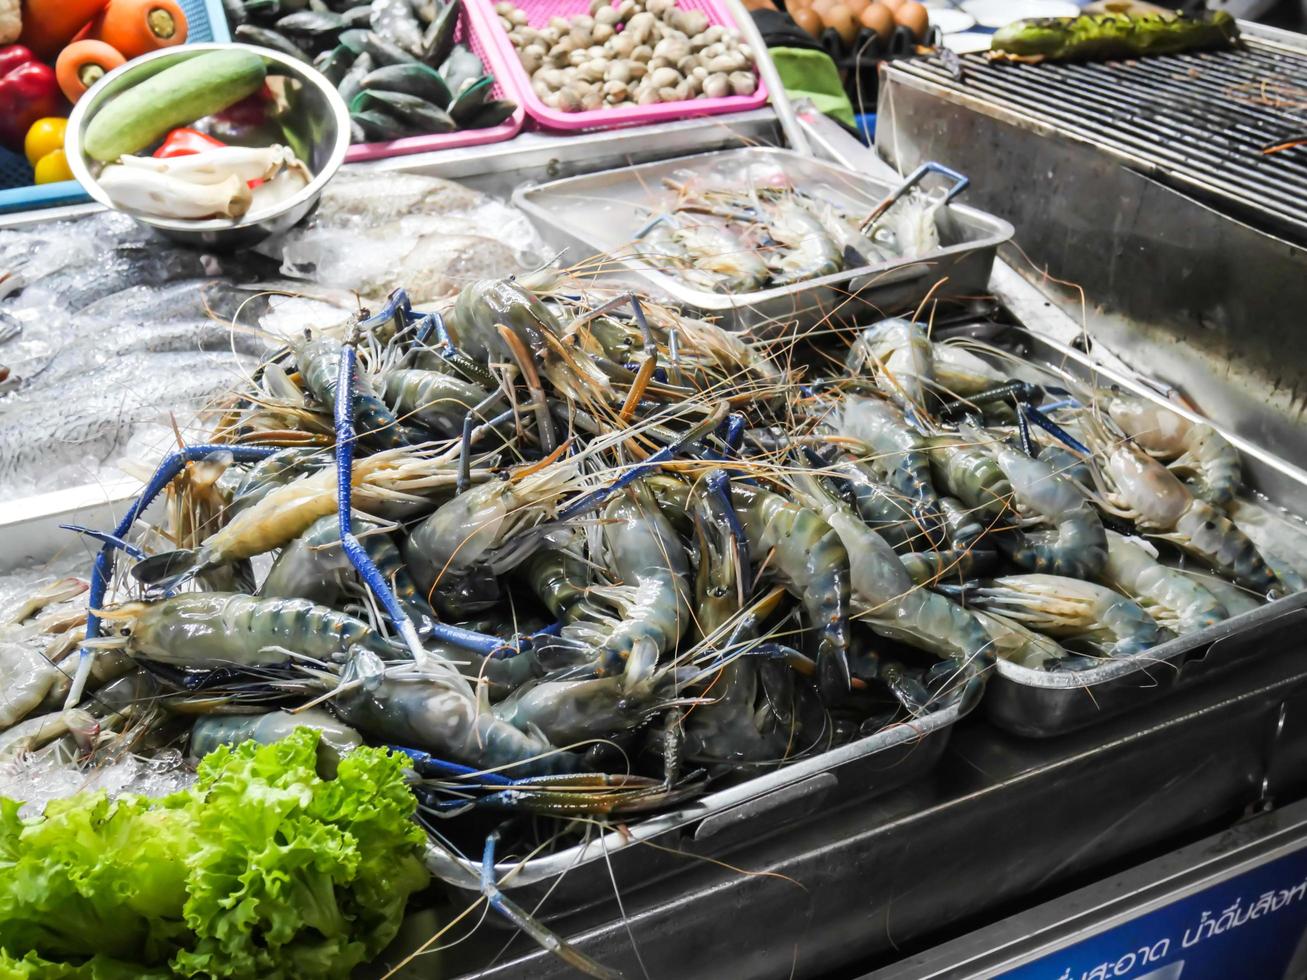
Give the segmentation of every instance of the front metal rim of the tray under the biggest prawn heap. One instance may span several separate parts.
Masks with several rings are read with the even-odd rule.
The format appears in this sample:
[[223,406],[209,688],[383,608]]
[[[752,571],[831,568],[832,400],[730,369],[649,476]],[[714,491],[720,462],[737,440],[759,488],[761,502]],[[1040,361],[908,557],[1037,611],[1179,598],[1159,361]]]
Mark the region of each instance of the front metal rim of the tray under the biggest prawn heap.
[[[963,713],[958,704],[941,708],[630,823],[622,832],[545,857],[502,860],[495,877],[502,889],[521,892],[524,904],[548,898],[537,912],[545,919],[606,903],[614,881],[623,889],[643,887],[698,866],[701,858],[720,858],[805,818],[830,813],[839,804],[867,801],[918,779],[940,760]],[[451,885],[480,889],[476,860],[431,852],[429,865]]]

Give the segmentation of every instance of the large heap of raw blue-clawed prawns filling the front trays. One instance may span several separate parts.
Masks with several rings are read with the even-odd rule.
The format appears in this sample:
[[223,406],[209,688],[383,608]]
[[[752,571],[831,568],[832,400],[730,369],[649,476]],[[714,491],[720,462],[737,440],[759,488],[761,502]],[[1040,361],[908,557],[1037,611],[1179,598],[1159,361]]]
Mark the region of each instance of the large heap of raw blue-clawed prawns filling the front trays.
[[999,659],[1148,656],[1303,587],[1307,528],[1216,429],[1026,367],[911,319],[759,340],[553,269],[397,290],[73,529],[89,587],[0,623],[0,753],[391,746],[443,873],[488,827],[574,844],[965,711]]

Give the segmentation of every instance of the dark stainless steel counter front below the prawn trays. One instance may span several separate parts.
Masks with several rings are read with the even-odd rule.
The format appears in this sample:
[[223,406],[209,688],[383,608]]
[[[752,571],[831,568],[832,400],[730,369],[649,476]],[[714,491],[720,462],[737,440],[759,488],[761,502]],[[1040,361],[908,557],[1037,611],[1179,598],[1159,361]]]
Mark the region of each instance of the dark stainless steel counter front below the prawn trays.
[[[625,921],[606,903],[552,925],[631,977],[635,949],[654,980],[852,976],[1302,798],[1304,763],[1295,649],[1061,738],[966,723],[925,781],[737,853],[740,870],[621,881]],[[493,920],[442,955],[484,980],[575,976]]]

